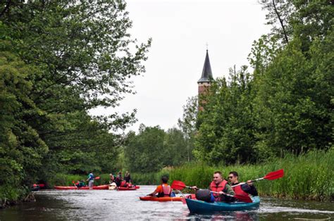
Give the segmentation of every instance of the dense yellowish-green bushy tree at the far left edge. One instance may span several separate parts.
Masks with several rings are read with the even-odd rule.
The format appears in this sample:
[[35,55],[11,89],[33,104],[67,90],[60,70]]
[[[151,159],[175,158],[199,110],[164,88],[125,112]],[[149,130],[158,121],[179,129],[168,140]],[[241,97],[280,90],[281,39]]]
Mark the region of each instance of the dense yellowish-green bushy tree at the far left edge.
[[[6,25],[0,22],[4,34]],[[10,41],[0,39],[0,207],[6,198],[23,197],[24,185],[38,177],[48,148],[25,118],[38,115],[28,94],[32,90],[30,78],[40,74],[34,65],[27,65],[16,56]],[[32,77],[33,78],[33,77]]]

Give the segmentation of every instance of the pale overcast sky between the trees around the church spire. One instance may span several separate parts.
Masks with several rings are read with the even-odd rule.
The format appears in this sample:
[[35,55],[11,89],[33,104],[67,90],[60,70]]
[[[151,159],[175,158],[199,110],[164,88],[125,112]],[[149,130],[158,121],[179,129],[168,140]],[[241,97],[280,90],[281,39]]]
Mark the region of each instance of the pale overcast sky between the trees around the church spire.
[[[265,11],[259,0],[128,0],[133,22],[130,34],[138,42],[152,38],[146,72],[133,78],[135,95],[126,95],[118,112],[137,109],[140,123],[177,127],[187,98],[197,95],[206,43],[214,78],[228,77],[228,68],[248,65],[252,42],[266,34]],[[97,109],[94,114],[114,110]],[[128,131],[127,130],[127,131]]]

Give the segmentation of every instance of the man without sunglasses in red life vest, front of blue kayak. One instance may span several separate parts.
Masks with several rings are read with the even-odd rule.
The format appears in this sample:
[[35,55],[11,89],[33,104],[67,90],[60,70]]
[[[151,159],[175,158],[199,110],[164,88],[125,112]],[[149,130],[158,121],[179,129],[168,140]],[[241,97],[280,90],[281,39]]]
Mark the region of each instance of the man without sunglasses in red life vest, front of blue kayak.
[[[228,182],[223,179],[223,175],[221,175],[220,171],[214,172],[214,181],[211,182],[209,190],[218,192],[211,193],[212,201],[222,201],[222,202],[233,202],[235,201],[235,198],[231,196],[226,196],[225,194],[234,195],[235,192],[233,191],[232,187],[228,184]],[[196,186],[192,187],[192,189],[198,189]],[[203,191],[204,194],[206,194],[206,191]],[[205,196],[207,198],[207,196]]]

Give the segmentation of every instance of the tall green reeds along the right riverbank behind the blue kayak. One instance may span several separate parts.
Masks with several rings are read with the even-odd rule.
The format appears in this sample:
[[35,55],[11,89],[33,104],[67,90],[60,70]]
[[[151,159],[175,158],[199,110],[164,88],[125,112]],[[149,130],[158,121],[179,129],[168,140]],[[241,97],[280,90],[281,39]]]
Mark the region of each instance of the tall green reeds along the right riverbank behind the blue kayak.
[[259,165],[230,165],[209,167],[201,164],[189,164],[171,171],[170,177],[182,180],[187,185],[206,188],[211,182],[212,173],[237,171],[240,181],[264,177],[268,172],[283,168],[285,176],[272,181],[262,180],[256,183],[261,196],[304,198],[319,201],[334,198],[334,151],[311,151],[302,156],[287,154],[284,158],[275,158]]

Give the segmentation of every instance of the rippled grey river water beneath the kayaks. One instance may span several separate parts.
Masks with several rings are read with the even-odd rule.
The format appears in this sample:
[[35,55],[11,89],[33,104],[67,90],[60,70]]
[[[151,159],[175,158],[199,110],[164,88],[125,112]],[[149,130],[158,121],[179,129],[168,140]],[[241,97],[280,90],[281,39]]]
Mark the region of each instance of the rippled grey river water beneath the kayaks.
[[190,214],[182,202],[140,201],[154,191],[44,190],[36,202],[0,210],[0,220],[334,220],[334,202],[261,198],[257,210]]

